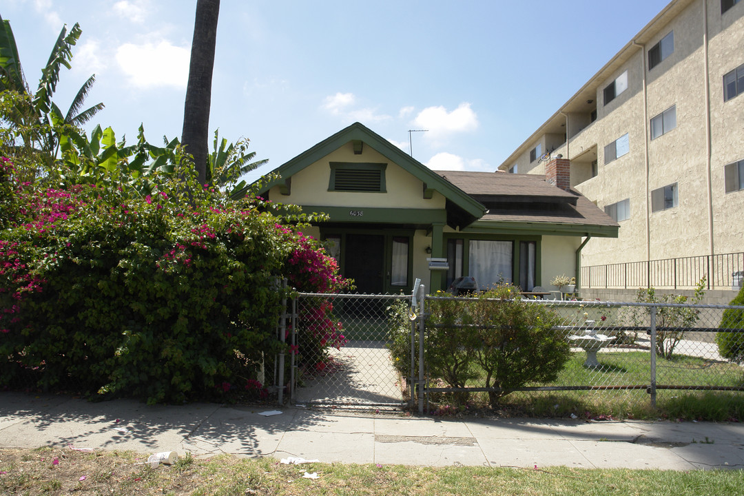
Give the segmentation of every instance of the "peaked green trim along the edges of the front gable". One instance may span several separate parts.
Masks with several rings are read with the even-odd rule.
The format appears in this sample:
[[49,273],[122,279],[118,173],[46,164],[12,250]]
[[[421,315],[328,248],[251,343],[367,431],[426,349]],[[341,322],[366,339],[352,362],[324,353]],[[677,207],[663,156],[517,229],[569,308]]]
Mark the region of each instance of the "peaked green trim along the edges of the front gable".
[[[449,200],[449,202],[452,202],[452,204],[466,213],[466,216],[468,217],[466,223],[472,222],[475,219],[480,219],[481,216],[484,215],[486,208],[480,202],[472,199],[472,197],[463,190],[442,178],[437,173],[434,173],[428,167],[403,152],[403,150],[392,144],[390,141],[382,138],[382,136],[376,134],[371,129],[358,122],[341,129],[341,131],[337,132],[335,135],[332,135],[315,146],[312,146],[310,149],[307,149],[300,155],[297,155],[295,158],[282,164],[272,172],[278,173],[281,178],[289,178],[303,170],[305,167],[309,167],[311,164],[321,160],[331,152],[341,148],[341,146],[355,140],[363,141],[392,163],[397,164],[415,178],[425,182],[427,187],[441,193]],[[260,193],[269,191],[272,187],[276,186],[279,181],[280,180],[271,181],[264,185]]]

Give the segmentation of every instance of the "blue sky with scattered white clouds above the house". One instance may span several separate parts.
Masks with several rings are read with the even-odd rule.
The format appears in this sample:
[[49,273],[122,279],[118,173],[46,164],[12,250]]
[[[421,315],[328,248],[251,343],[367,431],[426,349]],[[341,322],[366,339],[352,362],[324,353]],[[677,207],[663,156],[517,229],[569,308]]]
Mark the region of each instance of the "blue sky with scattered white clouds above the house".
[[[222,0],[210,129],[279,167],[359,121],[433,169],[496,170],[667,0]],[[89,126],[182,129],[195,0],[3,0],[31,89],[80,23],[65,110],[96,74]],[[210,142],[211,146],[211,142]]]

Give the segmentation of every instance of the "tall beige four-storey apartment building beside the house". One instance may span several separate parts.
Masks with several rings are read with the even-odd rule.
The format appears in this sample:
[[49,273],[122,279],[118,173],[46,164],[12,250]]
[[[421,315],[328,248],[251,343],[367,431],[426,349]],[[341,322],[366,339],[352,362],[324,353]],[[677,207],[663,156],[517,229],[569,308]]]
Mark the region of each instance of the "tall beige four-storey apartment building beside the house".
[[499,169],[568,161],[571,187],[620,224],[583,266],[741,252],[742,93],[744,1],[673,0]]

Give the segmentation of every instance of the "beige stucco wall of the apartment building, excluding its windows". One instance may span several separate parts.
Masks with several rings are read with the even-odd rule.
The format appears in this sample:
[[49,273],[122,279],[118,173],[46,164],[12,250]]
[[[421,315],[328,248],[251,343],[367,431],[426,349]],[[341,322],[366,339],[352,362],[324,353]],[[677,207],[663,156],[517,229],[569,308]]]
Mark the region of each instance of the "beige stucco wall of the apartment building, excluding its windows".
[[[735,5],[723,15],[718,1],[707,4],[707,63],[705,2],[691,1],[665,25],[655,26],[643,49],[629,48],[633,52],[626,61],[597,80],[594,123],[580,122],[581,115],[571,122],[569,115],[569,126],[586,126],[569,140],[568,146],[554,152],[583,167],[571,184],[600,208],[624,199],[630,201],[630,219],[620,221],[618,238],[591,239],[583,249],[582,265],[711,254],[711,237],[713,253],[744,250],[740,221],[744,191],[725,193],[724,176],[726,164],[744,159],[744,96],[724,103],[722,94],[723,74],[744,63],[744,4]],[[673,54],[645,71],[644,99],[648,50],[670,31],[674,33]],[[626,70],[628,89],[604,105],[604,88]],[[676,128],[651,140],[650,119],[673,105]],[[626,132],[629,153],[608,161],[604,147]],[[597,176],[588,178],[588,153],[593,147]],[[525,167],[519,172],[542,174],[544,170]],[[651,192],[674,183],[678,185],[679,204],[651,212]]]

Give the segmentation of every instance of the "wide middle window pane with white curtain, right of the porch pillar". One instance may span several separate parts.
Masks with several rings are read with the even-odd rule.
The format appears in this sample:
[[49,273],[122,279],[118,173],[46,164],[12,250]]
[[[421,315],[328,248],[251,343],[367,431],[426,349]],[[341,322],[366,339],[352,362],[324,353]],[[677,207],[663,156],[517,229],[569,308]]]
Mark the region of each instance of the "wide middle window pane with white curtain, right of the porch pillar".
[[469,275],[479,289],[512,282],[513,242],[472,239],[469,246]]

